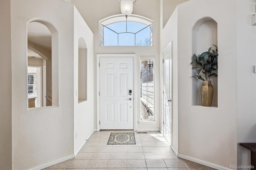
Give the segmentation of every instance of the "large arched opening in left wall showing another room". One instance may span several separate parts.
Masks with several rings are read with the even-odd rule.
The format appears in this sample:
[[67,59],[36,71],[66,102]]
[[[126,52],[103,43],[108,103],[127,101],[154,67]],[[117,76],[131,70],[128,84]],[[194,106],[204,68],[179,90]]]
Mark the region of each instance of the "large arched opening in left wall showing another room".
[[58,32],[39,20],[27,30],[28,108],[58,106]]

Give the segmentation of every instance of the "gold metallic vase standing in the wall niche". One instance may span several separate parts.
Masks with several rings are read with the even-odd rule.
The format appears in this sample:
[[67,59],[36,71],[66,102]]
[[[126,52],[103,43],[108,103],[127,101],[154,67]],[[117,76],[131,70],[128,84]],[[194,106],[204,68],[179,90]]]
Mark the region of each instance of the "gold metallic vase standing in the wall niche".
[[201,87],[202,105],[212,106],[213,87],[211,81],[204,81]]

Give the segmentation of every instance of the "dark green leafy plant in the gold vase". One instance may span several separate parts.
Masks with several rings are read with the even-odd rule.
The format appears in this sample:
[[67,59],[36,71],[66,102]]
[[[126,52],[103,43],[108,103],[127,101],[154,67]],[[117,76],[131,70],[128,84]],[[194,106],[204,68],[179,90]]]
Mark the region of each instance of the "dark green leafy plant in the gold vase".
[[[196,54],[193,55],[192,59],[193,61],[190,63],[192,65],[192,69],[195,69],[198,75],[193,75],[192,77],[195,77],[196,80],[210,80],[211,76],[217,77],[217,56],[218,56],[218,49],[217,46],[216,51],[210,47],[208,51],[203,52],[201,55],[196,56]],[[201,76],[201,72],[204,73],[205,79]],[[191,77],[190,77],[191,78]]]

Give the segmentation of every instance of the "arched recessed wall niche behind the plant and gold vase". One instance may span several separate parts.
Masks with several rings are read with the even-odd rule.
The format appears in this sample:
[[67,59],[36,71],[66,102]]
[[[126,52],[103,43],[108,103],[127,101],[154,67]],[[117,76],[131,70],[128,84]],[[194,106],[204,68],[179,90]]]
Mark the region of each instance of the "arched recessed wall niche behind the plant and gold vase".
[[[202,18],[196,22],[192,32],[192,54],[201,54],[208,51],[209,47],[215,50],[211,44],[218,46],[217,22],[210,17]],[[217,70],[218,71],[218,70]],[[196,75],[196,71],[192,70],[192,75]],[[218,72],[217,72],[218,74]],[[204,74],[202,77],[205,79]],[[218,77],[211,77],[213,90],[212,106],[218,107]],[[202,106],[201,86],[202,81],[192,78],[192,104]]]

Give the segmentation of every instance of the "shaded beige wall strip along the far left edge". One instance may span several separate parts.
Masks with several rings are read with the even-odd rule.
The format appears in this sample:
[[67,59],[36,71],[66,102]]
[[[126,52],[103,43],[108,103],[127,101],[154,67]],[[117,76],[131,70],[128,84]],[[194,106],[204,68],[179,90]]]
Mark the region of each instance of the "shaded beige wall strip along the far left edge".
[[0,167],[12,169],[12,67],[10,0],[0,1]]

